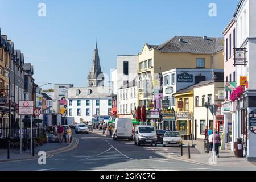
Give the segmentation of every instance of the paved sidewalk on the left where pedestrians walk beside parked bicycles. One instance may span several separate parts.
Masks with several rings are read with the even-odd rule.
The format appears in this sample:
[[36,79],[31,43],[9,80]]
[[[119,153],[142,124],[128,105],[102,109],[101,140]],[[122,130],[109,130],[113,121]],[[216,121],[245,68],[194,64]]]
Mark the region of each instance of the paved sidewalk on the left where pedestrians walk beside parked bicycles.
[[[78,144],[78,139],[73,138],[73,141],[68,145],[67,143],[59,144],[59,143],[44,143],[43,146],[40,146],[40,151],[45,151],[47,155],[56,154],[58,152],[64,152],[67,150],[72,150]],[[34,158],[38,158],[38,154],[35,154]],[[6,162],[11,160],[24,160],[24,159],[32,159],[32,154],[27,150],[22,154],[14,154],[10,149],[10,159],[7,159],[7,149],[0,149],[0,162]]]

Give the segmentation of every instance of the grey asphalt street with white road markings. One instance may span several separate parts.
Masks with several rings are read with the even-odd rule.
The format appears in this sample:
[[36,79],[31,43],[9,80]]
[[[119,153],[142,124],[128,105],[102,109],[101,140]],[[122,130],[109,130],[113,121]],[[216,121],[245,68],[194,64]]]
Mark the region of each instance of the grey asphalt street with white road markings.
[[[192,163],[176,158],[180,155],[178,147],[135,146],[128,140],[114,141],[105,137],[101,131],[94,130],[90,134],[74,134],[79,138],[78,146],[71,151],[51,155],[46,165],[39,165],[37,159],[18,162],[3,162],[0,170],[36,170],[36,171],[81,171],[81,170],[255,170],[252,167],[221,167]],[[57,144],[57,143],[56,143]],[[64,145],[65,143],[63,143]],[[191,148],[191,156],[198,154],[196,148]],[[187,155],[187,148],[184,148]]]

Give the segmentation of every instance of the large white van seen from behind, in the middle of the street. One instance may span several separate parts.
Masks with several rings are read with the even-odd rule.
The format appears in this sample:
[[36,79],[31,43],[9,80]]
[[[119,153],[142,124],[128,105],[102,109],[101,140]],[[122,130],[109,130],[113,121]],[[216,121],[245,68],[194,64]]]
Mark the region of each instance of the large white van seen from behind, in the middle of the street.
[[129,118],[115,119],[113,139],[133,140],[133,121]]

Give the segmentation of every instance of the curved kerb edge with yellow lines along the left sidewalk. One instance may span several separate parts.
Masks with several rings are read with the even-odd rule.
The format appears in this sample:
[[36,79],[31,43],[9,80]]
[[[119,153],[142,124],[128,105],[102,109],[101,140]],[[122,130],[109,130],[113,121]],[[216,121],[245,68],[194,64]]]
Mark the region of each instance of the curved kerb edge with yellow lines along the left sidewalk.
[[[79,143],[79,139],[73,138],[73,141],[72,141],[71,145],[68,145],[66,147],[62,147],[62,148],[59,148],[59,149],[56,149],[56,150],[52,150],[52,151],[46,151],[47,158],[49,156],[51,156],[52,154],[59,154],[59,153],[62,153],[62,152],[67,152],[67,151],[73,150],[78,146],[78,143]],[[27,158],[3,159],[3,160],[0,160],[0,163],[2,163],[2,162],[16,162],[16,161],[30,160],[30,159],[38,159],[38,156],[35,154],[34,157],[30,156],[30,157],[27,157]]]

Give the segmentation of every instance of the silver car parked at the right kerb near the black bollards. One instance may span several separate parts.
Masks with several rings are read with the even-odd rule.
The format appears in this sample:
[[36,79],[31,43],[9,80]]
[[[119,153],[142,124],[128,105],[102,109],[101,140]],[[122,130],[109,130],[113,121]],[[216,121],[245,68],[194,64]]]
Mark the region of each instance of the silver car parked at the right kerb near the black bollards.
[[166,131],[163,138],[163,146],[181,147],[181,141],[179,131]]

